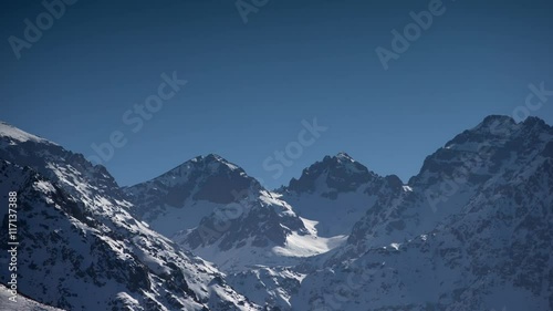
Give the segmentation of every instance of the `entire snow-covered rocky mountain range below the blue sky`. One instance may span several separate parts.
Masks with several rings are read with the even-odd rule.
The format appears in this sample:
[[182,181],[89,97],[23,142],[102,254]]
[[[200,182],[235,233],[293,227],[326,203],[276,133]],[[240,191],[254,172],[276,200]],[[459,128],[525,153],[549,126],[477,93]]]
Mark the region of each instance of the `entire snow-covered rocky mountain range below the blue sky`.
[[29,305],[553,310],[553,128],[535,117],[486,117],[407,183],[340,153],[276,190],[212,154],[119,187],[1,123],[0,175]]

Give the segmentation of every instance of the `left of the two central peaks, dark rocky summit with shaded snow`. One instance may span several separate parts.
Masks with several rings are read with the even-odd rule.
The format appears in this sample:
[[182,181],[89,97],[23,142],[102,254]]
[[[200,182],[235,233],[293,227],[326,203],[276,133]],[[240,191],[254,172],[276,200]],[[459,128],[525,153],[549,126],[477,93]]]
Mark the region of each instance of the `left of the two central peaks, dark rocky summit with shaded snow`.
[[170,236],[197,226],[215,208],[255,197],[264,188],[238,165],[208,154],[124,190],[137,218]]

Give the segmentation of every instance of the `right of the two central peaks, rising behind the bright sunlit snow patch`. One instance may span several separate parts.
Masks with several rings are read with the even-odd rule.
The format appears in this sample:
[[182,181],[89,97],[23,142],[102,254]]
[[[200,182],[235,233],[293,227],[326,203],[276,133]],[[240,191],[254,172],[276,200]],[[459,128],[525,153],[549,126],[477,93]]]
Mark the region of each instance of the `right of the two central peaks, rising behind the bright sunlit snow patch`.
[[380,177],[346,153],[325,156],[279,189],[298,215],[314,220],[320,237],[346,236],[378,194],[399,191],[397,176]]

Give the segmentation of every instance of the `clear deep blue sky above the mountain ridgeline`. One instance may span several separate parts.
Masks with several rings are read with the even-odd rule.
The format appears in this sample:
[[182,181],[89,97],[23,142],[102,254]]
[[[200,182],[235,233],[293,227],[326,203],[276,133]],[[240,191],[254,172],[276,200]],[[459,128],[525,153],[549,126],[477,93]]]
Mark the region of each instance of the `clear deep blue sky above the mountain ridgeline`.
[[[243,23],[234,1],[81,0],[17,60],[8,38],[45,9],[10,1],[0,120],[86,156],[121,131],[105,163],[121,185],[217,153],[276,187],[342,151],[407,182],[453,135],[511,115],[530,83],[553,90],[551,1],[445,0],[384,70],[375,49],[429,2],[270,0]],[[122,115],[174,71],[188,84],[133,133]],[[553,96],[532,115],[553,124]],[[263,160],[314,117],[328,129],[273,178]]]

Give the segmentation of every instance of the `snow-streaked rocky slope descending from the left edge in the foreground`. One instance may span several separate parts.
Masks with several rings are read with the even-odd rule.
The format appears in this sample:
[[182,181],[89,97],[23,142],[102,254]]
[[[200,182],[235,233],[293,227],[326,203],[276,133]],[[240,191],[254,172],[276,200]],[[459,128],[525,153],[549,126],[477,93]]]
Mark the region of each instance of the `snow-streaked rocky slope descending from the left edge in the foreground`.
[[18,191],[18,290],[27,297],[67,310],[258,309],[217,269],[133,218],[109,174],[82,155],[0,124],[0,159],[2,200]]

